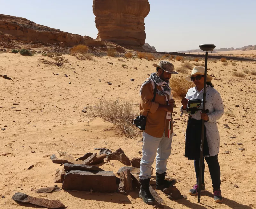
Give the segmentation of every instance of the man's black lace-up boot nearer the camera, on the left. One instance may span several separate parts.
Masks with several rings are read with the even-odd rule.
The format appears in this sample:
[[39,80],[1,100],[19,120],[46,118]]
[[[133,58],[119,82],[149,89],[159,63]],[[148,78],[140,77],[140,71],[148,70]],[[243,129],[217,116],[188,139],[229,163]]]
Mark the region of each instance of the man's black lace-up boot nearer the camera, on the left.
[[144,201],[144,203],[152,205],[156,203],[156,200],[153,198],[152,194],[149,191],[149,181],[148,179],[140,179],[140,191],[139,191],[139,197]]

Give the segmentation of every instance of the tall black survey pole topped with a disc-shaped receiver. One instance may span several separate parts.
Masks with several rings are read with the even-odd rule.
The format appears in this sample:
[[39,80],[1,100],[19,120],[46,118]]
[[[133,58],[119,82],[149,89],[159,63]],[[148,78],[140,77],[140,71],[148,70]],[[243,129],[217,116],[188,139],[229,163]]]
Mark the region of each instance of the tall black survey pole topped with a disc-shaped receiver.
[[[204,93],[203,93],[203,108],[202,113],[206,113],[206,80],[207,80],[207,61],[208,61],[208,51],[212,51],[215,48],[213,44],[201,44],[200,49],[205,51],[205,68],[204,68]],[[202,167],[203,167],[203,148],[204,148],[204,120],[202,120],[201,127],[201,143],[200,143],[200,160],[199,160],[199,177],[198,177],[198,203],[201,199],[201,188],[202,188]]]

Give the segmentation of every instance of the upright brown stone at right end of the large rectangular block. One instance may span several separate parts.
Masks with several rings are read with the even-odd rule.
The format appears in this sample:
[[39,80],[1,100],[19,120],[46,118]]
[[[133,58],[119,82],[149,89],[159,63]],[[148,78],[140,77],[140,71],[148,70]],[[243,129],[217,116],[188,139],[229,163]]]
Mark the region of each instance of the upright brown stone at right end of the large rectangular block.
[[129,194],[132,191],[132,177],[129,169],[121,171],[118,190],[121,194]]

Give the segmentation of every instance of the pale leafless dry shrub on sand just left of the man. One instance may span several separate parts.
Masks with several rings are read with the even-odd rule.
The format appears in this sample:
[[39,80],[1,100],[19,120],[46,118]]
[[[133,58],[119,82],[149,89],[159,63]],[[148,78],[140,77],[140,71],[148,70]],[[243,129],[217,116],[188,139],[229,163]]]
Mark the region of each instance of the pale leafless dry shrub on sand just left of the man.
[[93,107],[87,108],[89,117],[100,117],[104,121],[117,125],[127,137],[136,135],[137,128],[132,124],[132,120],[138,115],[138,110],[134,110],[130,102],[101,99]]

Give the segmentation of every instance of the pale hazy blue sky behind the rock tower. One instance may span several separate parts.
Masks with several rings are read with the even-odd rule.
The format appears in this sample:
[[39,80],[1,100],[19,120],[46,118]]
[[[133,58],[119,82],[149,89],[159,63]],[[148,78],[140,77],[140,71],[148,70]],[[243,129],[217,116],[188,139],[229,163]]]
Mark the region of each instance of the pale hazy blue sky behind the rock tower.
[[[106,0],[107,1],[107,0]],[[149,0],[146,43],[157,51],[256,44],[256,0]],[[96,38],[92,0],[0,0],[0,14]]]

